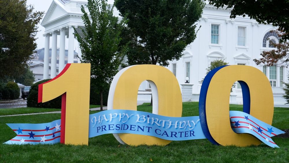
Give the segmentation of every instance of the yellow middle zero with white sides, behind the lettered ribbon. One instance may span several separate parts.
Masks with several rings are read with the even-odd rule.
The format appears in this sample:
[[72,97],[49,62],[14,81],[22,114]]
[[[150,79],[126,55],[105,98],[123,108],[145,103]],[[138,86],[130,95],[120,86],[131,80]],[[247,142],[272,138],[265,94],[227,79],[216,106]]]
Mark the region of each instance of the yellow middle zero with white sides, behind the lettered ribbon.
[[[149,81],[153,96],[153,113],[181,117],[182,97],[179,83],[173,73],[158,65],[134,65],[122,69],[112,80],[108,96],[108,109],[136,110],[140,83]],[[171,141],[153,136],[114,134],[122,144],[166,145]]]

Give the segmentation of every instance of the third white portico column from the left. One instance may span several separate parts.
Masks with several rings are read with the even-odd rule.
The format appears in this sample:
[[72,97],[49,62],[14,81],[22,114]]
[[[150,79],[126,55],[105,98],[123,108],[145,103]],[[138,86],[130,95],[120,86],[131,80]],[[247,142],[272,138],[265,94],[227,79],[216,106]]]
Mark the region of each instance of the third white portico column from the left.
[[58,74],[64,69],[64,65],[65,65],[65,29],[61,28]]

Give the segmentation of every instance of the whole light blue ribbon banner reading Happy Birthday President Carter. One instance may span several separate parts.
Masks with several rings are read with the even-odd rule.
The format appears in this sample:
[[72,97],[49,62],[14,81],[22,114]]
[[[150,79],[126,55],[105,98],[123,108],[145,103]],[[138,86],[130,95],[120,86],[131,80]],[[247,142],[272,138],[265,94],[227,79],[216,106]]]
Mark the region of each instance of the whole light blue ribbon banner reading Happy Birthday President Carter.
[[[89,138],[109,133],[149,135],[164,140],[206,139],[199,116],[166,117],[143,111],[106,110],[89,116]],[[271,147],[271,137],[284,133],[242,111],[230,111],[236,133],[249,133]],[[42,124],[7,124],[16,137],[4,144],[55,144],[60,142],[61,121]]]

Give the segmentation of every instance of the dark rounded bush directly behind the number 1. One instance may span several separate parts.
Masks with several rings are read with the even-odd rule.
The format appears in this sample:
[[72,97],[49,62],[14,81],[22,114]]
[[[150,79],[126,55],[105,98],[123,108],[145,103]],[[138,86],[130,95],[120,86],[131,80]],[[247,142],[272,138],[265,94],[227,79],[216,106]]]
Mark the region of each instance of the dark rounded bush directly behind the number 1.
[[56,108],[61,109],[61,96],[47,101],[38,103],[38,85],[47,82],[51,79],[41,80],[31,86],[29,96],[27,97],[27,107],[39,107],[39,108]]

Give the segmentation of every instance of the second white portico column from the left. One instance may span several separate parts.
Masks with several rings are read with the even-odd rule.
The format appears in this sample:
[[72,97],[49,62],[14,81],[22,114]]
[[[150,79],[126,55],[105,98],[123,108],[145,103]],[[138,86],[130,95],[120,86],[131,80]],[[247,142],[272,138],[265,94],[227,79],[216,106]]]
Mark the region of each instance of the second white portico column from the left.
[[51,74],[50,78],[56,76],[56,52],[57,52],[57,32],[52,33],[52,51],[51,51]]

